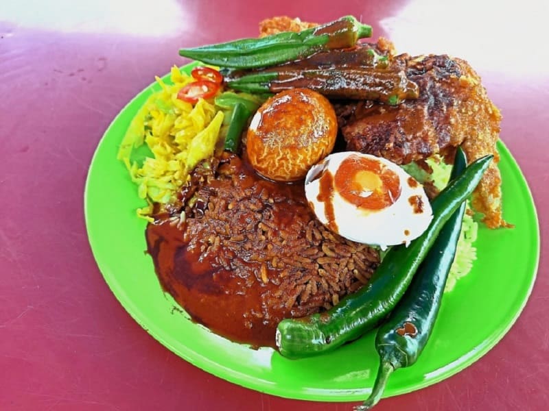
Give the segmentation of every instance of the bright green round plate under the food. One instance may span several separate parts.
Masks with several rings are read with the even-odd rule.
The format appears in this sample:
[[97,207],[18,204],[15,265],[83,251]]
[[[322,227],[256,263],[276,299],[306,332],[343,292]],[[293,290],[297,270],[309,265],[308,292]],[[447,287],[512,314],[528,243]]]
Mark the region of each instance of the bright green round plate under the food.
[[[168,76],[166,76],[168,77]],[[145,254],[145,221],[137,188],[116,155],[131,119],[155,84],[139,93],[108,127],[93,156],[84,193],[95,260],[115,296],[156,340],[201,369],[235,384],[281,397],[358,401],[369,395],[377,355],[375,332],[316,358],[287,360],[273,349],[232,343],[174,310]],[[449,377],[487,353],[519,316],[534,284],[539,227],[530,190],[511,153],[499,143],[505,219],[513,229],[480,227],[478,259],[445,295],[418,362],[396,371],[385,396],[408,393]],[[509,255],[519,258],[507,258]],[[509,287],[509,284],[513,284]]]

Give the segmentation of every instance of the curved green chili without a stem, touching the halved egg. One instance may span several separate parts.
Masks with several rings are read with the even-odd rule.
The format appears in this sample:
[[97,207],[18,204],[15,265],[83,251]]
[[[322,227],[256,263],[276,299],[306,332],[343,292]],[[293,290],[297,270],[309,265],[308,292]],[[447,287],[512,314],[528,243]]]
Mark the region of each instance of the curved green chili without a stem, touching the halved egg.
[[433,219],[427,230],[408,247],[391,248],[370,282],[336,306],[302,319],[285,319],[277,327],[277,347],[288,358],[330,351],[375,327],[401,299],[419,264],[446,221],[476,188],[493,155],[471,163],[432,201]]

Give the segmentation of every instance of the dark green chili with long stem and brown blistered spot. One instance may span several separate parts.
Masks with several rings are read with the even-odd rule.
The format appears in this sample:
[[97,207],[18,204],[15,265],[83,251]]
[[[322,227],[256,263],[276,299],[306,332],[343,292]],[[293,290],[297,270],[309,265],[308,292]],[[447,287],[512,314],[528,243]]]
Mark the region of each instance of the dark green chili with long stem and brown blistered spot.
[[[459,148],[450,179],[467,166],[465,153]],[[372,393],[356,411],[369,410],[381,399],[388,377],[401,367],[414,364],[431,335],[446,279],[458,244],[466,203],[444,225],[436,243],[417,271],[404,297],[386,322],[377,329],[375,349],[379,353],[379,371]]]

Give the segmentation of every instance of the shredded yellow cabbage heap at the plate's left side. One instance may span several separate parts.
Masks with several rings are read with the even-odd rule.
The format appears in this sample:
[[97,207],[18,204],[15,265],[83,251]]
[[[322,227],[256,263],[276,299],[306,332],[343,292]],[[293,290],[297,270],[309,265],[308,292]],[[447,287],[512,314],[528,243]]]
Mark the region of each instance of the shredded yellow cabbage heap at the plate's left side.
[[[156,77],[162,90],[154,92],[132,120],[117,155],[137,184],[139,197],[148,203],[137,214],[149,220],[152,203],[172,201],[196,164],[213,155],[223,123],[213,99],[192,105],[177,98],[193,77],[174,66],[170,78],[173,84]],[[136,149],[143,143],[150,153],[136,160]]]

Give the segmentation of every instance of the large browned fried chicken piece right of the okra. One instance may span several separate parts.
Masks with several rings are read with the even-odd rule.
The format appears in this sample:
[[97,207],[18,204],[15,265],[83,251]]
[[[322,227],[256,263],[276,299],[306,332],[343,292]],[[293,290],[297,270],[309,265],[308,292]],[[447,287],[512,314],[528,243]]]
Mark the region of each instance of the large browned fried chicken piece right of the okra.
[[501,115],[480,84],[480,77],[465,60],[447,55],[410,58],[395,62],[419,86],[418,99],[397,106],[372,101],[339,107],[339,123],[347,149],[371,153],[396,162],[421,162],[434,154],[452,162],[461,145],[469,162],[493,154],[494,161],[476,188],[472,206],[484,214],[484,223],[497,228],[502,219],[500,160],[495,143]]

